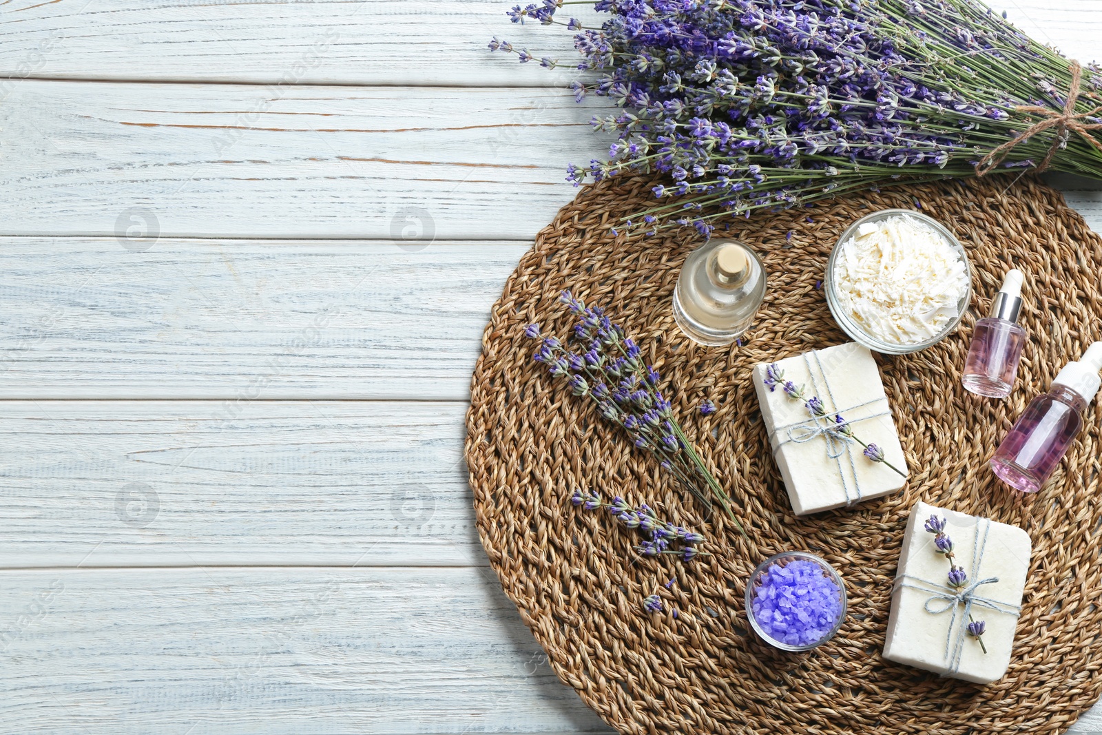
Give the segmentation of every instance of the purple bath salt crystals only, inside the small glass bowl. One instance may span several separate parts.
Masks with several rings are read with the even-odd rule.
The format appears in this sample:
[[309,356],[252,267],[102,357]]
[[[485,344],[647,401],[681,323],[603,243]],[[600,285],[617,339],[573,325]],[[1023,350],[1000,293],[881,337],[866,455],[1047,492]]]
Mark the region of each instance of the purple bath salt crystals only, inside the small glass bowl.
[[822,640],[842,613],[842,591],[819,564],[796,559],[767,569],[754,591],[754,618],[761,630],[789,646]]

